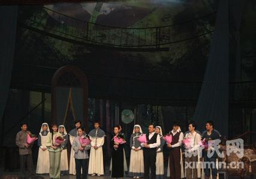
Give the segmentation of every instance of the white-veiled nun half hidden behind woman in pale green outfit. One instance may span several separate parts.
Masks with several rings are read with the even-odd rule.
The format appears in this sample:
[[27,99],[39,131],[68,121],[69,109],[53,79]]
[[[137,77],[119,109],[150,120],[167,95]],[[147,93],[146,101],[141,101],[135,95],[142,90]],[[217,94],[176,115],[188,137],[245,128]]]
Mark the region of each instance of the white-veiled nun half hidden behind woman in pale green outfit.
[[59,133],[65,139],[64,143],[61,144],[61,175],[68,174],[68,133],[64,125],[59,125]]

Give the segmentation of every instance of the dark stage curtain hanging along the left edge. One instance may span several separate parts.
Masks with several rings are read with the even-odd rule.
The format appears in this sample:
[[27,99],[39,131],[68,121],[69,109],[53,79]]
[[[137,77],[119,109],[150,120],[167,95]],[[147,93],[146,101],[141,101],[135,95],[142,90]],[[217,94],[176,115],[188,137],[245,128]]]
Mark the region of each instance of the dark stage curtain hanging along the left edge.
[[13,68],[17,10],[16,5],[0,6],[0,129],[2,129],[2,116],[7,103]]

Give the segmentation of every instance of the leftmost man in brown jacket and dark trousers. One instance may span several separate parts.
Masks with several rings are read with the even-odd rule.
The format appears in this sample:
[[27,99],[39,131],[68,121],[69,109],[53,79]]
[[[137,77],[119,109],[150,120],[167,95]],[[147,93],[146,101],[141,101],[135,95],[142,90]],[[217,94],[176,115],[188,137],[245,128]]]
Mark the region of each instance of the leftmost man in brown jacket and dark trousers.
[[20,155],[20,171],[23,174],[23,177],[26,177],[25,168],[27,165],[29,175],[35,175],[33,171],[33,161],[32,161],[32,144],[27,143],[27,136],[31,134],[28,131],[28,126],[26,123],[20,125],[21,131],[16,135],[16,145],[19,147]]

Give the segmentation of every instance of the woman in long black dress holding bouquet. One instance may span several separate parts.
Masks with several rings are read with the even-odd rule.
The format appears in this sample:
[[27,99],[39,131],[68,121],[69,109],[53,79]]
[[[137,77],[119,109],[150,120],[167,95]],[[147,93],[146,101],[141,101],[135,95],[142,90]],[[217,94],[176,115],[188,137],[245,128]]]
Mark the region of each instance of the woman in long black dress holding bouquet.
[[[114,137],[124,138],[119,133],[119,126],[114,127]],[[124,144],[115,143],[114,137],[111,141],[112,147],[112,178],[122,178],[124,177]]]

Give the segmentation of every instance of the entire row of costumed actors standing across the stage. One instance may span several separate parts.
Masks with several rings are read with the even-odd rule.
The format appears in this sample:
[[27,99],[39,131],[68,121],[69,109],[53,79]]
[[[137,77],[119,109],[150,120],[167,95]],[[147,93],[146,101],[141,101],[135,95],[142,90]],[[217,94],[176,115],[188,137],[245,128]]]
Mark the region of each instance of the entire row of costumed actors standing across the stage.
[[[44,123],[41,126],[40,134],[38,135],[38,162],[37,162],[37,174],[50,174],[50,178],[60,178],[61,171],[76,175],[77,178],[86,178],[90,175],[103,175],[103,144],[106,137],[105,132],[100,128],[100,123],[95,122],[94,127],[88,136],[91,139],[91,144],[80,144],[79,138],[86,137],[84,129],[81,127],[81,122],[75,122],[76,128],[71,130],[68,134],[64,125],[52,125],[52,132],[50,132],[48,124]],[[31,147],[26,143],[26,135],[30,132],[27,130],[27,125],[21,125],[22,130],[18,132],[16,136],[16,144],[19,147],[20,154],[20,168],[25,175],[25,165],[28,166],[29,174],[33,174],[32,171],[32,155]],[[182,162],[182,140],[183,138],[193,138],[191,143],[192,152],[197,150],[198,144],[201,138],[215,140],[220,137],[218,131],[213,129],[213,122],[206,123],[206,131],[200,134],[195,130],[196,125],[191,122],[189,124],[188,132],[180,130],[179,124],[174,122],[173,129],[169,132],[172,135],[173,140],[171,143],[167,143],[167,148],[170,150],[170,157],[168,161],[167,176],[170,178],[183,178],[183,162]],[[134,125],[134,130],[130,138],[131,156],[129,163],[129,176],[134,178],[144,177],[149,178],[164,178],[164,159],[162,149],[165,141],[163,140],[161,126],[149,125],[149,134],[146,134],[147,143],[140,143],[137,138],[143,134],[140,125]],[[124,134],[121,132],[121,126],[115,126],[113,129],[114,135],[119,138],[124,138]],[[65,142],[61,146],[55,146],[55,138],[62,136],[65,138]],[[68,139],[72,145],[73,150],[70,154],[70,166],[68,167],[68,153],[67,143]],[[111,141],[112,147],[112,161],[110,163],[110,171],[112,178],[124,177],[124,172],[127,171],[124,144],[116,143],[113,139]],[[90,151],[90,156],[87,150]],[[89,166],[88,166],[89,161]],[[197,162],[197,156],[190,156],[186,158],[187,162]],[[215,162],[216,155],[208,158],[204,155],[204,161]],[[212,171],[213,178],[216,177],[216,169],[205,168],[205,178],[210,177],[210,170]],[[150,172],[149,172],[150,171]],[[186,178],[200,177],[197,168],[186,168]]]

